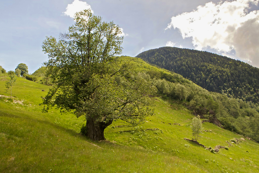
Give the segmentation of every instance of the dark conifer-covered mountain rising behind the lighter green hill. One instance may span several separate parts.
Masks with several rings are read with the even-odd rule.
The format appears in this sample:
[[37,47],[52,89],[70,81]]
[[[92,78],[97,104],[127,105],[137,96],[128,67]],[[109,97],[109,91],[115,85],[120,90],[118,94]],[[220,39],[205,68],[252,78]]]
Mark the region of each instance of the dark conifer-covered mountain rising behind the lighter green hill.
[[177,47],[152,49],[136,57],[181,74],[208,91],[259,101],[259,69],[239,60]]

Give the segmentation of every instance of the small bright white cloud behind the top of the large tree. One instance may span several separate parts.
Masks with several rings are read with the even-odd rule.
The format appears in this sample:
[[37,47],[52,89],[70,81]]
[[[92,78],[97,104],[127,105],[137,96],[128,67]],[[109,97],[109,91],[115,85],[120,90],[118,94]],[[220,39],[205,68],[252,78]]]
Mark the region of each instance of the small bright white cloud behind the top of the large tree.
[[[87,4],[86,2],[74,0],[72,4],[68,4],[66,11],[63,12],[65,15],[74,18],[75,13],[83,10],[91,9],[91,6]],[[91,9],[91,12],[93,13],[93,10]]]

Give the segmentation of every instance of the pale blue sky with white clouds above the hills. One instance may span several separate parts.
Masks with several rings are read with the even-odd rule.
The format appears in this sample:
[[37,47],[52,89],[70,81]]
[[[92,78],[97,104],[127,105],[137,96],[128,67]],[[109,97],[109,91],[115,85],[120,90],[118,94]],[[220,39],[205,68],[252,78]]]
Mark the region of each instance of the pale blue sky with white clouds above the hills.
[[164,46],[196,49],[259,68],[259,0],[9,0],[0,1],[0,65],[29,73],[48,60],[46,36],[58,38],[74,13],[91,9],[123,31],[123,53],[135,57]]

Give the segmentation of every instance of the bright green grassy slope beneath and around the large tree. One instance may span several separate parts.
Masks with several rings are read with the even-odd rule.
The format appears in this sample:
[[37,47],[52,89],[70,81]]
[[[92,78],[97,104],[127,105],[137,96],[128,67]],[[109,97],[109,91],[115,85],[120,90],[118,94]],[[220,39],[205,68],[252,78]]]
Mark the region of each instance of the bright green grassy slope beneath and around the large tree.
[[[148,65],[138,68],[145,66]],[[5,80],[7,76],[0,78],[0,94],[9,96]],[[48,89],[49,86],[17,78],[14,101],[0,98],[0,172],[258,171],[258,143],[248,139],[231,143],[229,140],[241,136],[211,123],[203,124],[205,130],[212,131],[201,134],[198,141],[212,148],[228,146],[228,141],[228,150],[213,154],[184,140],[191,138],[193,115],[183,102],[157,97],[155,115],[147,117],[144,124],[133,127],[114,122],[105,129],[107,141],[93,142],[79,134],[83,118],[60,114],[55,109],[41,112],[40,97]]]

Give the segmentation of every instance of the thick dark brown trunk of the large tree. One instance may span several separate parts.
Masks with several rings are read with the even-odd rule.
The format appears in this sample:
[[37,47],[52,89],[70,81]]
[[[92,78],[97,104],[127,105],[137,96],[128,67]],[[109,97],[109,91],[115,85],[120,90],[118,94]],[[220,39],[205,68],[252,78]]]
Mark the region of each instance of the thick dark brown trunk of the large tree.
[[93,118],[89,118],[86,121],[86,126],[88,129],[87,137],[93,141],[105,140],[104,138],[104,129],[112,123],[112,120],[109,122],[95,122]]

